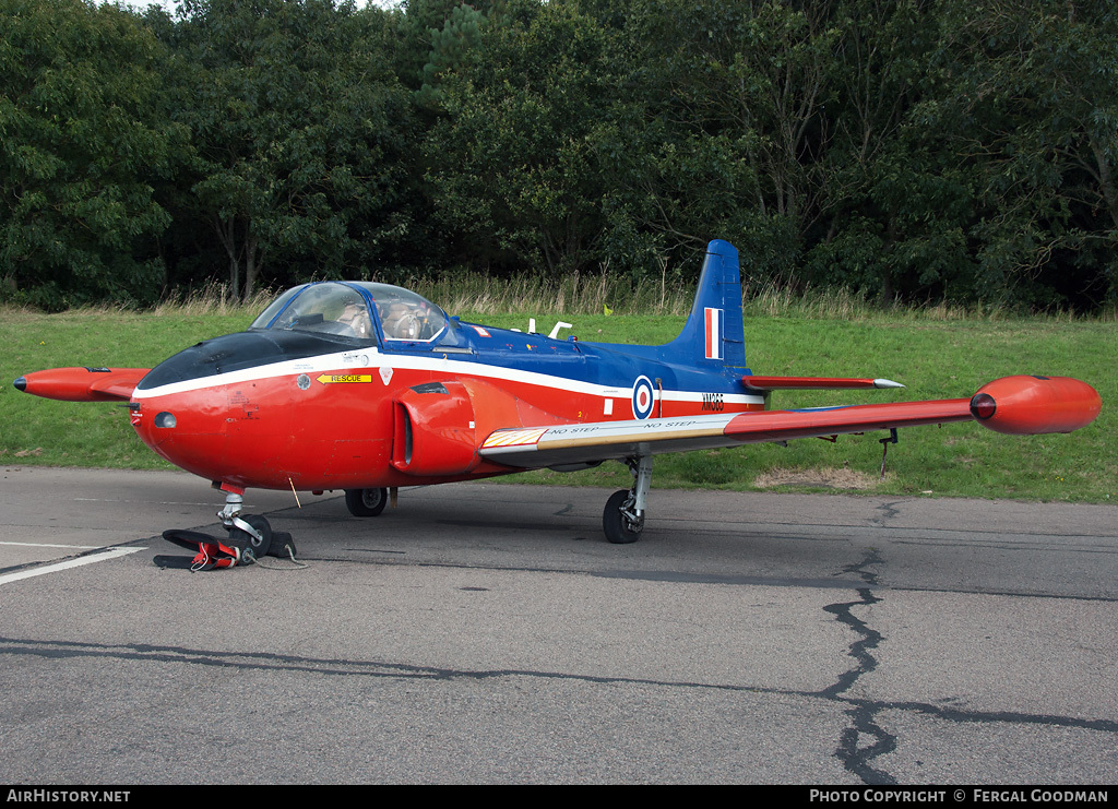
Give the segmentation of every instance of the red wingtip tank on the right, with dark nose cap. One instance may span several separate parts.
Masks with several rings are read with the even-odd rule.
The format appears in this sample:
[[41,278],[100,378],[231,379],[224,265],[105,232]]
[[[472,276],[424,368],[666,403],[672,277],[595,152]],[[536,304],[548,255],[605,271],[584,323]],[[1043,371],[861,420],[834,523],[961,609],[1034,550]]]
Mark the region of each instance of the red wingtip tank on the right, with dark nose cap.
[[1101,408],[1098,391],[1070,377],[1003,377],[970,400],[978,423],[1010,436],[1071,432],[1091,423]]

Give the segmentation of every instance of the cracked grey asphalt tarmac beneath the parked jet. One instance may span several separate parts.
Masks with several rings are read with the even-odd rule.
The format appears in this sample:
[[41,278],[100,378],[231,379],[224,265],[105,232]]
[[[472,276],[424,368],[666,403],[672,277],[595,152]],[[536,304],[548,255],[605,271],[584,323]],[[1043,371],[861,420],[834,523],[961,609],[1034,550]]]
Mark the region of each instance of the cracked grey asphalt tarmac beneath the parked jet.
[[1118,510],[0,469],[0,782],[1063,784],[1118,771]]

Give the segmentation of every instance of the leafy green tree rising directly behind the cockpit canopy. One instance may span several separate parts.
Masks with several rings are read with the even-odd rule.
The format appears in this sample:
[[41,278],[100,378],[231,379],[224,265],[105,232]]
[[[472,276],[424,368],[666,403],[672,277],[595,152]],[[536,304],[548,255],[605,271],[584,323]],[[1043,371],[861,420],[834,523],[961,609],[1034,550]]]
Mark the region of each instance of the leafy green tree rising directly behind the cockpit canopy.
[[220,244],[230,288],[247,297],[262,278],[383,261],[410,227],[415,140],[390,16],[331,0],[187,0],[170,36],[192,216]]

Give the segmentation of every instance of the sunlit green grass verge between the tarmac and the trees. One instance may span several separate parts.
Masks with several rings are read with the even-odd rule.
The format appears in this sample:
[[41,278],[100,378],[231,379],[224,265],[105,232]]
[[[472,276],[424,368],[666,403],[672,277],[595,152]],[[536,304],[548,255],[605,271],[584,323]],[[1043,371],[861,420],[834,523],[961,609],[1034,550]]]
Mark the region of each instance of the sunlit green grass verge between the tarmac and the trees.
[[[435,299],[434,291],[425,291]],[[666,294],[666,293],[665,293]],[[527,299],[527,298],[525,298]],[[477,305],[464,320],[524,329],[529,313],[538,330],[555,320],[574,323],[581,340],[661,343],[673,337],[690,305],[664,304],[656,315],[601,314],[600,298],[584,311],[553,308],[517,314],[485,313]],[[666,298],[665,298],[666,301]],[[468,298],[463,298],[470,303]],[[832,298],[826,306],[846,304]],[[766,308],[767,307],[767,308]],[[822,308],[821,308],[822,307]],[[454,311],[452,305],[447,305]],[[655,308],[655,307],[653,307]],[[787,447],[759,445],[657,457],[654,486],[736,491],[843,492],[883,495],[1017,497],[1035,501],[1118,502],[1118,460],[1110,436],[1118,401],[1112,358],[1118,330],[1109,321],[1070,317],[968,317],[958,313],[882,313],[852,305],[826,314],[822,298],[799,303],[769,299],[747,305],[747,356],[757,373],[887,377],[901,391],[777,392],[774,407],[941,399],[970,396],[983,382],[1013,373],[1071,375],[1091,382],[1103,410],[1090,427],[1070,436],[1014,438],[974,423],[900,431],[880,475],[882,434],[817,439]],[[119,406],[54,402],[21,394],[10,381],[29,371],[61,365],[150,368],[199,340],[244,329],[254,311],[237,307],[163,306],[136,313],[88,310],[47,315],[0,311],[0,464],[165,468],[144,447]],[[509,480],[627,487],[619,464],[575,474],[525,473]]]

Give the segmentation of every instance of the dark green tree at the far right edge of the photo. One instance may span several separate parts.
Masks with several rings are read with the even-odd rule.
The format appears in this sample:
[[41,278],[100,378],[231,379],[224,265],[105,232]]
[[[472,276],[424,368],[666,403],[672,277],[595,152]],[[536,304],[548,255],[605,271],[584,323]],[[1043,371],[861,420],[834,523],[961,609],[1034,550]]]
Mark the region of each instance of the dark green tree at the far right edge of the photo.
[[974,184],[973,291],[1045,306],[1118,279],[1118,11],[1096,0],[946,0],[913,121]]

